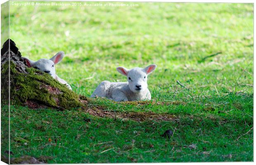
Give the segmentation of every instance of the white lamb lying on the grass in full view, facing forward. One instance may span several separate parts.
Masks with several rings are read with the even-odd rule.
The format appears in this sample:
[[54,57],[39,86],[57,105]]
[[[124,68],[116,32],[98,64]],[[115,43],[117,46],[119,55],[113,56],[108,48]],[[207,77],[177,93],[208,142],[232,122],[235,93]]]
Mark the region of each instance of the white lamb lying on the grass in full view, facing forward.
[[114,101],[150,100],[147,76],[155,69],[156,64],[151,64],[144,69],[136,67],[129,70],[117,67],[116,70],[119,73],[127,76],[128,82],[102,81],[90,97],[105,97]]

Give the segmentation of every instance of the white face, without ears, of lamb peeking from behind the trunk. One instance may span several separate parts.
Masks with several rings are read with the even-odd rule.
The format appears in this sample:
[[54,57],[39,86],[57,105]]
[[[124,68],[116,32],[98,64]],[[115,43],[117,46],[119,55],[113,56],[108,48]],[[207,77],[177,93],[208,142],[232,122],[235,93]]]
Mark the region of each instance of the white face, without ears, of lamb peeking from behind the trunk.
[[39,69],[42,72],[50,74],[53,78],[55,78],[55,64],[52,60],[48,59],[40,59],[33,63],[33,68]]

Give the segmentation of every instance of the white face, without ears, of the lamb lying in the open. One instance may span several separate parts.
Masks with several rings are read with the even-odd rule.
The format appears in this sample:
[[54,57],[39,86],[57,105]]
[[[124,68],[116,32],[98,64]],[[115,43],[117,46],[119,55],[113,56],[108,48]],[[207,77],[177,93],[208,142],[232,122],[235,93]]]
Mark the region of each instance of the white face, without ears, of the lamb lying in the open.
[[127,79],[130,90],[139,93],[147,89],[147,74],[141,68],[134,68],[128,72]]

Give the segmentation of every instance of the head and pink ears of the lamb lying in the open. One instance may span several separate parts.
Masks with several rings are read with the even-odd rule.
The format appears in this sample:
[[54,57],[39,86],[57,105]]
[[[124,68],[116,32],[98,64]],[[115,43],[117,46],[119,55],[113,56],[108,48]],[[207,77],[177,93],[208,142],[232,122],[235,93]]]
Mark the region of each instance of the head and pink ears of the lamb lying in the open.
[[147,89],[147,75],[152,73],[156,69],[156,64],[151,64],[146,68],[134,68],[134,69],[126,69],[124,67],[117,67],[116,70],[127,76],[127,80],[129,82],[129,88],[132,92],[139,93],[143,92]]

